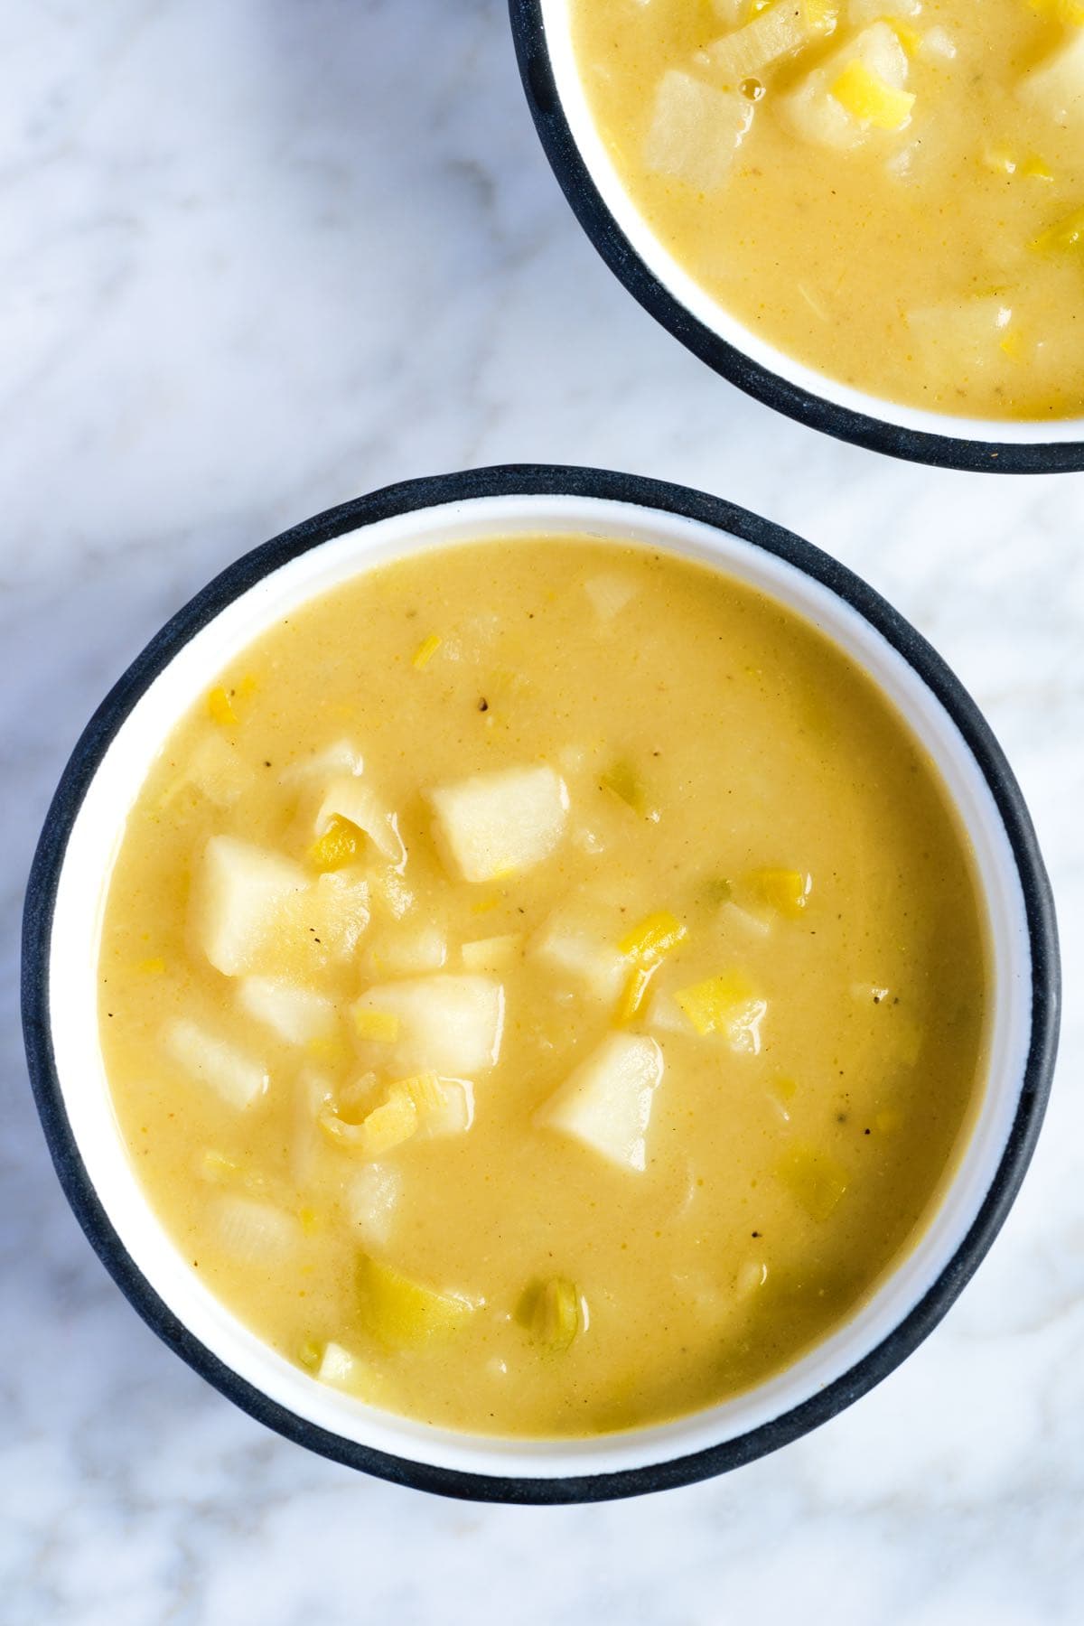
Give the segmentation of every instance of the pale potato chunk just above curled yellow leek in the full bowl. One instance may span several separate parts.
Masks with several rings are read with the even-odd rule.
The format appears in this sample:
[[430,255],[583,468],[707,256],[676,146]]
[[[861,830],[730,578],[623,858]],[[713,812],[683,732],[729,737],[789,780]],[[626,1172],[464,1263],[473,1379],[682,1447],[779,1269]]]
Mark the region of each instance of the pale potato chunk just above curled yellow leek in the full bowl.
[[354,1013],[385,1011],[398,1018],[390,1054],[369,1052],[401,1072],[471,1078],[494,1067],[504,1029],[504,989],[491,977],[437,976],[385,982],[369,989]]

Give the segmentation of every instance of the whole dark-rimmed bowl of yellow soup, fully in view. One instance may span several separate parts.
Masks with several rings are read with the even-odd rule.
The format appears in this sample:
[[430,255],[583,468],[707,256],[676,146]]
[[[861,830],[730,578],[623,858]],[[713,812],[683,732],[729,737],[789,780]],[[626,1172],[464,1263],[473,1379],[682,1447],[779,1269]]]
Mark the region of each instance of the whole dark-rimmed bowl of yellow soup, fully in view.
[[936,657],[796,538],[590,472],[234,566],[76,753],[28,922],[137,1306],[462,1494],[696,1478],[860,1393],[996,1229],[1053,1044],[1042,867]]

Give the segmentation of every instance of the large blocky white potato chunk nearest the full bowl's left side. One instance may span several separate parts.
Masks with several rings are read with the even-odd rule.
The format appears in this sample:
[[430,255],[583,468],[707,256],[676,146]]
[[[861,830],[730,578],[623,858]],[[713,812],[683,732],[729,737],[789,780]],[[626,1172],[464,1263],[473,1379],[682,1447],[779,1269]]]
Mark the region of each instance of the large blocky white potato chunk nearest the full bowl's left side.
[[228,977],[250,971],[306,872],[237,836],[211,836],[195,891],[193,924],[203,953]]

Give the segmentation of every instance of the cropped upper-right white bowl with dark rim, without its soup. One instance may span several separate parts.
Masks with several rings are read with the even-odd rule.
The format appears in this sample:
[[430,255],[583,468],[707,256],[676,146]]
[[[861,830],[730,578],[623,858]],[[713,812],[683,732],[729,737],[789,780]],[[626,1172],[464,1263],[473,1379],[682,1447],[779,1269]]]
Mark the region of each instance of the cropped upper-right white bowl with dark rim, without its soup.
[[611,272],[700,361],[798,423],[874,452],[1012,475],[1084,468],[1084,418],[956,418],[852,389],[769,345],[710,298],[639,211],[606,151],[575,62],[572,0],[509,0],[523,89],[564,195]]

